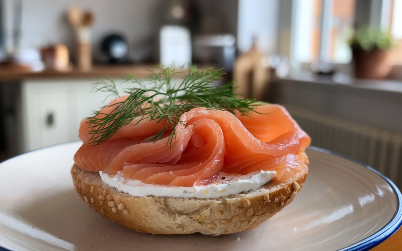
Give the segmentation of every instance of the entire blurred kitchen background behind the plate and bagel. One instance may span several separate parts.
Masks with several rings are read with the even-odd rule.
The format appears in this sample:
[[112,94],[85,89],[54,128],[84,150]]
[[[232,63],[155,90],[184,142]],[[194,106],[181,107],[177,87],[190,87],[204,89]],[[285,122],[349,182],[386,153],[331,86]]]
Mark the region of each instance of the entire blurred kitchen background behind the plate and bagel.
[[402,187],[402,0],[0,0],[0,159],[78,140],[95,78],[223,67]]

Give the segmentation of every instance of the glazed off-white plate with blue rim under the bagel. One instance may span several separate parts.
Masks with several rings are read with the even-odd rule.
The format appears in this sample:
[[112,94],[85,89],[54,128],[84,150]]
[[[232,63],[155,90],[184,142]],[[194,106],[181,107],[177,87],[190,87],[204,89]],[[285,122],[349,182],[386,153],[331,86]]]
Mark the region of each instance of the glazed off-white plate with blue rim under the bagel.
[[[70,167],[80,142],[0,163],[0,246],[10,250],[368,250],[401,225],[401,194],[369,167],[315,147],[293,203],[259,227],[218,237],[150,235],[88,208]],[[1,249],[1,248],[0,248]]]

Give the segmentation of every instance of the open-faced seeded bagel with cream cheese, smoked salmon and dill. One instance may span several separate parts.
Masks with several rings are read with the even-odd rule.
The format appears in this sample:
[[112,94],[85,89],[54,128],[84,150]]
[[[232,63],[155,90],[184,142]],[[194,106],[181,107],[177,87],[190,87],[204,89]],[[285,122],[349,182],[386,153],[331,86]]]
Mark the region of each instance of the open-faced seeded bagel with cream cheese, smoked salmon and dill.
[[[252,229],[299,192],[310,137],[282,106],[218,88],[213,69],[161,68],[82,121],[75,189],[101,215],[140,232],[221,235]],[[172,84],[172,77],[181,78]]]

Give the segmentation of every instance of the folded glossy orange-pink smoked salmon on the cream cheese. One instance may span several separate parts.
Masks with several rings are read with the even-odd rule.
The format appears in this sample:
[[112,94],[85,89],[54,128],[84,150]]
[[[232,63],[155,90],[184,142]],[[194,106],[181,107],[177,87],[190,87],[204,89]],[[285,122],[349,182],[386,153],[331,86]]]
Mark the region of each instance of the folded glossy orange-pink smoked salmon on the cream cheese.
[[[127,98],[121,97],[105,107],[105,116]],[[222,110],[194,108],[183,113],[175,127],[176,137],[169,146],[168,137],[144,142],[166,123],[142,120],[121,127],[101,145],[89,146],[91,135],[84,120],[80,138],[84,142],[74,156],[85,170],[116,174],[126,179],[166,186],[205,185],[220,171],[247,174],[275,170],[282,182],[305,168],[301,152],[310,137],[282,106],[263,104],[250,116]]]

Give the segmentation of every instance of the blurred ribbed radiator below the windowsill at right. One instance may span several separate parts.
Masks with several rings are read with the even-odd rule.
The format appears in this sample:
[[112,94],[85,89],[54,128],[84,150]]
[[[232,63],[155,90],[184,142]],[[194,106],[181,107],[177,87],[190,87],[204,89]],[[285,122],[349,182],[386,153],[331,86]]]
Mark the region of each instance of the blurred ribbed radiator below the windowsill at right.
[[402,189],[402,135],[287,107],[312,145],[342,153],[374,167]]

